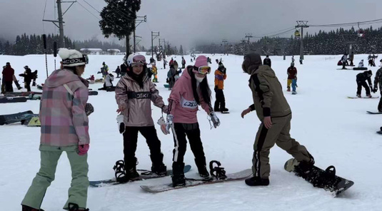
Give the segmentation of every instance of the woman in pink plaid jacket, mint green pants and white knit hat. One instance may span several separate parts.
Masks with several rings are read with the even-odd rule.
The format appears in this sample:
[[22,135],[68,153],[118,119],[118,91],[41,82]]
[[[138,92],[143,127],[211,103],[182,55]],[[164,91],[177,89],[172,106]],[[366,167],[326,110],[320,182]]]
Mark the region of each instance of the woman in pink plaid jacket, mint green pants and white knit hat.
[[88,82],[81,78],[88,58],[76,50],[61,48],[60,69],[46,79],[39,118],[41,121],[41,167],[21,202],[23,211],[39,211],[46,189],[56,173],[57,162],[66,152],[71,165],[71,187],[64,210],[86,209],[89,186],[87,151],[89,150],[89,119],[94,111],[86,103]]

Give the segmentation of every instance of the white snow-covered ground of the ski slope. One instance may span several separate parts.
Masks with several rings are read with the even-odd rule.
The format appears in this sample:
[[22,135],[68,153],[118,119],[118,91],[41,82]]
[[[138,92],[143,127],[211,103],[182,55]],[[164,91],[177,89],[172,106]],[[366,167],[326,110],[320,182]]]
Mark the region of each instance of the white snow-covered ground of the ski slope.
[[[230,114],[218,117],[220,127],[210,130],[207,115],[198,112],[201,139],[207,160],[221,161],[227,173],[251,168],[253,141],[259,120],[256,113],[240,117],[243,109],[251,105],[252,96],[248,88],[248,75],[241,70],[243,56],[206,55],[212,58],[212,70],[217,68],[216,58],[222,58],[227,68],[224,86],[226,105]],[[181,56],[173,56],[181,63]],[[89,56],[84,77],[96,75],[103,61],[114,71],[123,56]],[[149,60],[149,56],[146,56]],[[190,56],[185,56],[187,64]],[[376,111],[379,99],[348,99],[356,96],[356,74],[361,71],[342,71],[336,66],[338,56],[306,56],[303,65],[298,63],[297,95],[286,92],[286,69],[291,56],[271,56],[272,68],[283,85],[284,94],[291,105],[293,120],[291,135],[305,145],[316,165],[326,168],[335,165],[337,175],[353,180],[355,185],[333,197],[330,192],[313,187],[308,182],[283,170],[291,158],[275,146],[271,150],[271,184],[268,187],[248,187],[243,181],[202,185],[181,190],[151,194],[141,190],[139,185],[155,185],[170,182],[170,177],[131,182],[112,187],[89,188],[90,210],[382,210],[382,140],[376,133],[382,125],[382,115],[368,115],[366,110]],[[356,55],[355,63],[367,55]],[[170,58],[168,58],[168,61]],[[0,56],[0,64],[11,62],[17,74],[28,65],[32,71],[39,70],[38,83],[44,83],[45,56]],[[49,55],[49,73],[54,69],[54,57]],[[379,58],[378,60],[379,61]],[[59,63],[59,58],[57,58]],[[379,62],[377,62],[377,66]],[[57,65],[58,66],[58,65]],[[167,70],[161,62],[157,88],[167,99],[169,91],[164,88]],[[378,67],[371,70],[375,75]],[[208,76],[213,89],[213,71]],[[96,75],[99,78],[101,75]],[[20,81],[21,77],[18,77]],[[101,84],[93,84],[96,90]],[[365,95],[363,90],[362,95]],[[374,95],[378,96],[379,93]],[[213,94],[213,102],[214,102]],[[95,111],[89,117],[91,147],[89,150],[89,179],[101,180],[114,177],[112,169],[116,160],[123,158],[123,140],[116,125],[116,102],[114,93],[99,91],[98,96],[89,96],[89,103]],[[0,115],[32,110],[39,113],[39,101],[0,104]],[[154,121],[161,116],[159,108],[153,106]],[[171,168],[174,141],[172,135],[161,133],[156,125],[162,143],[164,163]],[[23,125],[0,126],[0,205],[1,210],[20,210],[20,202],[39,170],[39,128]],[[139,135],[136,150],[138,168],[150,168],[149,148]],[[188,148],[185,163],[192,169],[186,177],[197,175],[193,154]],[[65,153],[59,160],[56,180],[46,192],[42,204],[45,210],[61,210],[67,199],[71,170]]]

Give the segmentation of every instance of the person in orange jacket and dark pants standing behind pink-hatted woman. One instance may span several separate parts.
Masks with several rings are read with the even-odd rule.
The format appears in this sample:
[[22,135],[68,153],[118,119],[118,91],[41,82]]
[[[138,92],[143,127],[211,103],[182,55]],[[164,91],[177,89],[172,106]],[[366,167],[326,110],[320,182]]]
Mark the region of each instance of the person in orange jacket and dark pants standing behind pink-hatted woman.
[[226,98],[224,98],[223,88],[224,80],[226,80],[226,68],[223,63],[218,63],[218,69],[215,71],[215,94],[216,101],[213,106],[214,111],[220,111],[221,113],[228,113],[228,108],[226,108]]

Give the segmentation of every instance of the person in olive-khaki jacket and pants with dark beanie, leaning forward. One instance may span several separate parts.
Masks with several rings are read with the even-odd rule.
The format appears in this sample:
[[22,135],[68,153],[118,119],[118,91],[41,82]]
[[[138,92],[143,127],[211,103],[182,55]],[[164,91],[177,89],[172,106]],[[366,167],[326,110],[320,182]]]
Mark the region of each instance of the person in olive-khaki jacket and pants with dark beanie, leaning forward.
[[274,71],[269,66],[262,65],[258,53],[246,54],[242,68],[251,76],[249,87],[253,104],[243,110],[241,117],[256,110],[258,119],[261,120],[253,145],[253,177],[246,179],[246,185],[269,185],[269,151],[275,143],[296,158],[299,165],[311,167],[314,164],[312,155],[289,134],[292,112]]

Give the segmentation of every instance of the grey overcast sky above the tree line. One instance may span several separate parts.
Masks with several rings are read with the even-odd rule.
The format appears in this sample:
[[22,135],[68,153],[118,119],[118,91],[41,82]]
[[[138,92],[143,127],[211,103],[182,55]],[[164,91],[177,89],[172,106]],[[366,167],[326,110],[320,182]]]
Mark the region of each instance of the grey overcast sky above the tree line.
[[[106,6],[105,1],[77,1],[64,15],[65,35],[74,40],[103,38],[99,13],[85,1],[98,11]],[[0,0],[0,37],[14,41],[18,34],[58,33],[56,26],[41,21],[43,16],[44,19],[54,19],[55,2]],[[63,4],[63,11],[69,5]],[[149,47],[151,31],[160,31],[160,38],[178,47],[182,44],[189,48],[201,41],[220,44],[226,38],[236,42],[245,34],[256,36],[288,29],[295,26],[297,20],[309,21],[308,24],[337,24],[382,19],[381,9],[381,0],[142,0],[138,15],[146,15],[147,22],[137,28],[136,35],[142,36],[141,44]],[[373,25],[379,26],[381,24]],[[309,33],[318,30],[316,27],[307,29]],[[293,31],[283,36],[292,34]],[[154,42],[158,43],[158,39]]]

